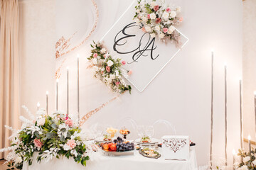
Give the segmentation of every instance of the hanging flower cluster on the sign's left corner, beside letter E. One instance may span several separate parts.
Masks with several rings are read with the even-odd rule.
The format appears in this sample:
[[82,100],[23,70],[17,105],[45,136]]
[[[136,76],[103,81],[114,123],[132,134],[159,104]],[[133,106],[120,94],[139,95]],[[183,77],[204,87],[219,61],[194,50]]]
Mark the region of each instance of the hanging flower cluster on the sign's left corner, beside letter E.
[[91,55],[87,59],[90,61],[90,67],[95,71],[95,77],[103,81],[112,91],[119,94],[123,94],[125,91],[131,93],[132,87],[127,85],[122,78],[132,74],[132,70],[122,68],[126,62],[119,57],[112,57],[100,42],[94,42],[91,47]]

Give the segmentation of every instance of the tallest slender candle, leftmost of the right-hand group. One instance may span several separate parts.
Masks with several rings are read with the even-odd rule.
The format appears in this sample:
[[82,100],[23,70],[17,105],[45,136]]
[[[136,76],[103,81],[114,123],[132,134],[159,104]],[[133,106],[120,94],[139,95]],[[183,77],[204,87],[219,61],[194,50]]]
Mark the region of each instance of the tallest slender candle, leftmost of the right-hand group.
[[213,50],[211,52],[210,169],[213,168]]

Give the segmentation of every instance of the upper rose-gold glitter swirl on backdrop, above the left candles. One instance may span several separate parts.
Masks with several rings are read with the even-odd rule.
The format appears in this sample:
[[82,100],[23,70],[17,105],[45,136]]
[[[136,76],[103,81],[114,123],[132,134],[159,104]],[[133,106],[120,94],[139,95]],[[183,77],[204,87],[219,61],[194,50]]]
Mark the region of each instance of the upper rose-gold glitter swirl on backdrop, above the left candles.
[[[95,11],[96,11],[96,18],[95,18],[95,23],[92,27],[92,30],[90,31],[90,33],[87,35],[87,37],[85,38],[85,40],[82,40],[82,42],[80,42],[80,44],[76,45],[75,47],[72,47],[70,50],[67,50],[68,47],[70,46],[70,39],[73,38],[73,36],[75,35],[75,32],[70,38],[68,38],[68,40],[65,40],[64,37],[60,38],[58,40],[58,42],[56,42],[55,45],[55,58],[58,59],[59,57],[62,57],[63,55],[68,54],[69,52],[72,52],[73,50],[77,49],[78,47],[80,47],[83,43],[85,43],[86,40],[88,40],[90,38],[90,36],[92,35],[92,33],[95,31],[95,28],[97,27],[97,21],[99,18],[99,10],[97,7],[97,4],[95,3],[94,0],[92,0],[92,4],[93,6],[95,6]],[[67,50],[67,51],[64,51]],[[60,67],[58,67],[58,69],[55,72],[55,79],[59,79],[61,74],[60,74],[60,69],[61,67],[63,67],[63,63],[65,62],[66,59],[63,60],[63,62],[60,64]]]

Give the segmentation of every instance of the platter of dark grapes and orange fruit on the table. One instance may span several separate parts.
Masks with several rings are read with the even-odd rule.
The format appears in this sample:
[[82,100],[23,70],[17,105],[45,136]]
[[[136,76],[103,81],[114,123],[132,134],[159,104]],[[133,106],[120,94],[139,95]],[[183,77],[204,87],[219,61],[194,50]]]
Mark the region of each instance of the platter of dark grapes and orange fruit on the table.
[[124,141],[122,137],[112,140],[112,142],[101,143],[102,150],[112,155],[134,154],[134,143]]

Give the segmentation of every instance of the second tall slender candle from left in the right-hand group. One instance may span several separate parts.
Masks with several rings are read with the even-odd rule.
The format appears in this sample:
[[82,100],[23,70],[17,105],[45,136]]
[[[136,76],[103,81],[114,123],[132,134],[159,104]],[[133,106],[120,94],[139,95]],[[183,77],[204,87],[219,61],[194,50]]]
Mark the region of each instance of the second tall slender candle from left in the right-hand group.
[[227,142],[228,142],[228,112],[227,112],[227,64],[224,65],[225,73],[225,166],[228,165]]

